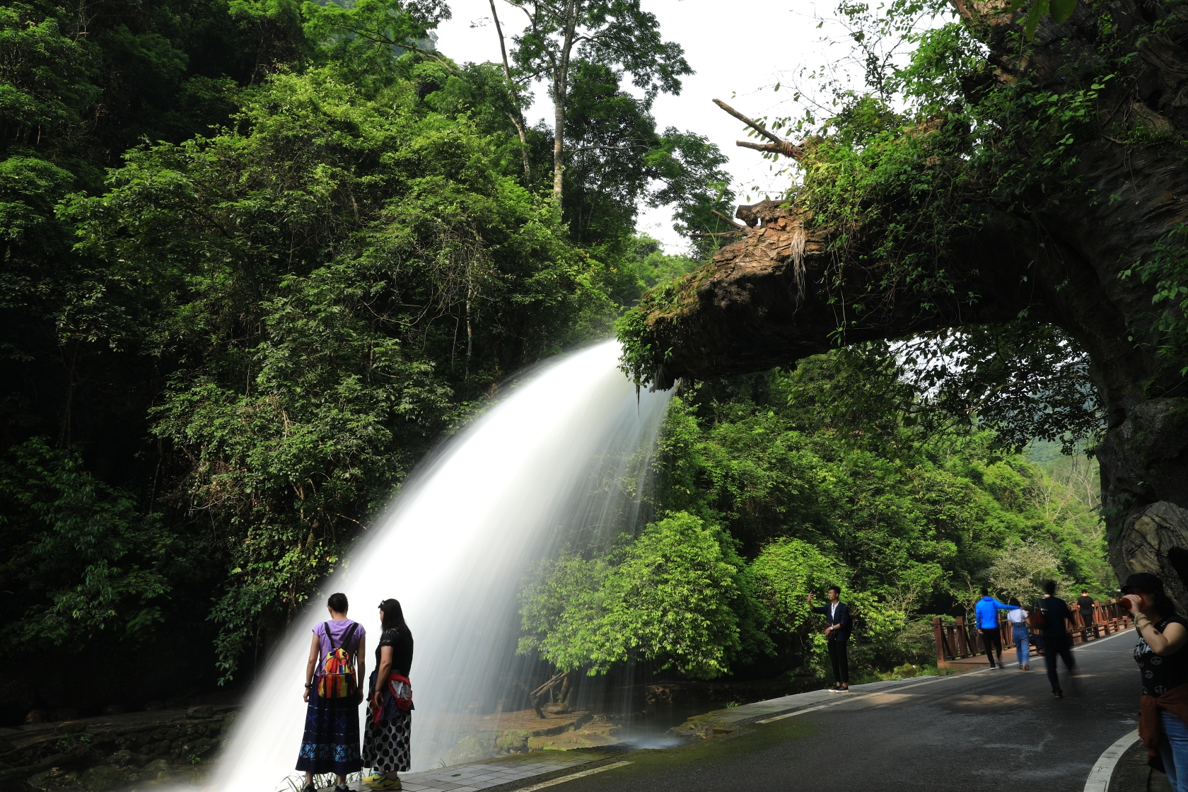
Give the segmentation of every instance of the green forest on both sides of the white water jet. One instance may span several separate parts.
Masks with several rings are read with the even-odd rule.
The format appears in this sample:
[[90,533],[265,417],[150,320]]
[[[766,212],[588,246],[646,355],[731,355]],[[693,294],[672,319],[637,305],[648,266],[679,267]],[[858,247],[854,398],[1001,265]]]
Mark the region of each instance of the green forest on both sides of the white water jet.
[[[727,229],[721,152],[621,85],[630,61],[678,91],[680,46],[579,52],[558,204],[555,128],[522,123],[535,56],[437,52],[448,13],[0,8],[0,646],[50,658],[44,688],[0,689],[4,717],[178,692],[177,669],[120,682],[115,645],[185,647],[196,684],[249,678],[442,432],[522,366],[605,337]],[[642,203],[674,207],[691,258],[636,234]],[[993,577],[1019,553],[1111,585],[1091,502],[985,427],[871,407],[870,366],[901,376],[871,347],[674,399],[662,517],[529,581],[522,647],[563,669],[783,671],[814,657],[800,601],[827,579],[884,659],[981,582],[1030,591]]]

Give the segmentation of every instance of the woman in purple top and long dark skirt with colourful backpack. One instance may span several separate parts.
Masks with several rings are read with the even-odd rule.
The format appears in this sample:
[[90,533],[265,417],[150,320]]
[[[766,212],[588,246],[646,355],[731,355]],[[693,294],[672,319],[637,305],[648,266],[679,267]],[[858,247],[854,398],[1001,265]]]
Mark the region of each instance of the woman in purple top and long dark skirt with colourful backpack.
[[[326,603],[329,621],[314,628],[314,640],[305,664],[305,734],[302,736],[297,769],[305,772],[305,788],[314,792],[314,775],[337,775],[337,792],[347,791],[347,774],[362,769],[359,755],[359,704],[362,702],[365,631],[347,619],[347,595],[331,594]],[[329,661],[335,650],[342,657]],[[329,673],[328,673],[329,666]],[[349,671],[347,672],[347,667]],[[345,672],[345,673],[343,673]],[[324,679],[323,679],[324,677]],[[327,689],[329,696],[320,690]]]

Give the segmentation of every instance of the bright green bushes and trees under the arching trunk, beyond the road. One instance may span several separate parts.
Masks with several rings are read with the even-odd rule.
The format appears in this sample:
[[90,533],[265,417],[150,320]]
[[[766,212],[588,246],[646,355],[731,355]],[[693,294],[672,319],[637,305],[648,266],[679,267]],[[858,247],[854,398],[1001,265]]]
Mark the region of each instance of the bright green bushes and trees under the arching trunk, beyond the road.
[[[1107,596],[1114,582],[1094,502],[996,452],[985,430],[911,420],[884,387],[895,380],[868,378],[870,362],[889,356],[883,346],[852,349],[674,398],[650,495],[668,519],[607,556],[575,551],[541,570],[525,590],[523,647],[590,672],[628,658],[703,678],[820,667],[821,625],[805,597],[839,584],[870,645],[864,661],[886,667],[928,660],[927,617],[966,613],[981,585],[1029,597],[1053,577]],[[704,600],[665,597],[672,589],[631,560],[677,526],[696,526],[685,543],[697,550],[671,553],[664,577],[703,577]],[[723,565],[716,578],[704,571],[712,564]],[[609,641],[624,625],[647,634],[646,613],[704,625],[696,659],[713,651],[713,663],[680,645]]]

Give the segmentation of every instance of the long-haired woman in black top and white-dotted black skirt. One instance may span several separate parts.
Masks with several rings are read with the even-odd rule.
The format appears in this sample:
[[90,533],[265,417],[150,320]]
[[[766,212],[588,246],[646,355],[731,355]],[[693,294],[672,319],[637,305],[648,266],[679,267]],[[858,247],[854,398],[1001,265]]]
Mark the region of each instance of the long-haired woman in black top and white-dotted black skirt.
[[383,633],[375,647],[364,731],[362,760],[372,774],[364,779],[372,790],[399,790],[402,771],[410,767],[412,736],[412,633],[396,600],[379,603]]

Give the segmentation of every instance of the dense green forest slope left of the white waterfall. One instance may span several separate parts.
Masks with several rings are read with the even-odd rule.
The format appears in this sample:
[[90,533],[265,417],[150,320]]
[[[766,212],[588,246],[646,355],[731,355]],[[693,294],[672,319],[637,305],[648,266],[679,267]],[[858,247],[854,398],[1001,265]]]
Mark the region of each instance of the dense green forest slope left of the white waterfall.
[[575,58],[558,204],[552,133],[435,50],[448,17],[0,9],[0,651],[184,633],[244,678],[444,430],[690,267],[634,217],[699,230],[716,147]]

